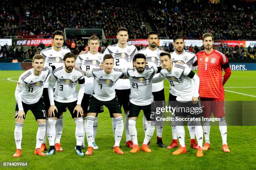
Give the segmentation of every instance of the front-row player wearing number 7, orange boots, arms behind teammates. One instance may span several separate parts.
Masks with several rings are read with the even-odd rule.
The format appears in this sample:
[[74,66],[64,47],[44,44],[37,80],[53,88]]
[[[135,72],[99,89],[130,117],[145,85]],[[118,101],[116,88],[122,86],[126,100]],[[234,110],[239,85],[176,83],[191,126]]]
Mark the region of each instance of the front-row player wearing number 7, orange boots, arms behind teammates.
[[116,121],[114,152],[123,155],[123,151],[120,150],[119,146],[123,135],[123,117],[121,107],[115,96],[115,83],[119,78],[123,78],[124,75],[121,69],[113,68],[113,66],[114,58],[112,55],[107,54],[103,58],[103,70],[95,68],[84,72],[87,77],[93,77],[94,79],[86,125],[88,149],[85,155],[88,156],[93,153],[93,124],[96,113],[100,112],[102,105],[108,107],[110,116],[114,117]]

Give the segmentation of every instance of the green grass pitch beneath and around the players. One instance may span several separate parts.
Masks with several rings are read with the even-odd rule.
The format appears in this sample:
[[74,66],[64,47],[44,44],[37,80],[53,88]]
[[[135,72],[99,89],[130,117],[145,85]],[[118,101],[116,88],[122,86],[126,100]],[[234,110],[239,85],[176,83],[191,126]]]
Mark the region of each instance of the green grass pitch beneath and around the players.
[[[14,141],[14,91],[16,82],[24,71],[0,71],[0,161],[4,162],[28,162],[26,169],[256,169],[255,152],[255,126],[228,126],[228,146],[231,153],[223,153],[222,141],[218,126],[211,127],[211,149],[204,151],[204,157],[197,158],[196,150],[189,147],[189,133],[186,130],[187,153],[172,155],[176,149],[167,150],[156,145],[156,131],[151,139],[151,153],[140,151],[136,154],[129,153],[130,148],[125,146],[125,132],[120,143],[124,155],[113,153],[113,131],[108,109],[99,114],[96,143],[99,147],[94,150],[92,156],[79,157],[75,154],[76,139],[74,135],[75,123],[69,112],[64,113],[64,128],[61,138],[62,153],[56,153],[51,157],[34,155],[36,145],[37,123],[33,114],[29,111],[23,127],[22,150],[20,158],[13,158],[15,153]],[[226,87],[250,87],[250,88],[226,88]],[[169,97],[169,84],[165,81],[166,100]],[[256,100],[256,71],[232,71],[232,75],[225,84],[225,100],[227,101],[255,101]],[[238,92],[238,93],[234,93]],[[240,94],[239,94],[240,93]],[[243,94],[241,94],[243,93]],[[247,94],[247,95],[244,95]],[[143,94],[142,94],[143,95]],[[248,96],[251,95],[251,96]],[[254,97],[253,97],[254,96]],[[256,116],[256,115],[254,115]],[[142,115],[137,121],[138,142],[141,145],[144,138]],[[170,126],[164,127],[163,142],[169,145],[172,141]],[[48,143],[48,141],[47,141]],[[49,147],[49,146],[48,146]],[[85,149],[83,150],[86,151]],[[11,168],[5,168],[11,169]]]

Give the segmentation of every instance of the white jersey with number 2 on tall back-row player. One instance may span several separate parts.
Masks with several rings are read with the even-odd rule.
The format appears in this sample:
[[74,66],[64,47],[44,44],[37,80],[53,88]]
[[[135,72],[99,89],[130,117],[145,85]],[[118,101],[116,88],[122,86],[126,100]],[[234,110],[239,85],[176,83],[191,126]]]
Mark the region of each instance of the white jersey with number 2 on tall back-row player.
[[[118,44],[108,46],[104,51],[105,54],[112,54],[114,57],[115,68],[124,69],[133,67],[133,57],[138,53],[134,45],[126,45],[125,48],[118,47]],[[131,88],[129,80],[119,79],[116,83],[116,89],[123,90]]]

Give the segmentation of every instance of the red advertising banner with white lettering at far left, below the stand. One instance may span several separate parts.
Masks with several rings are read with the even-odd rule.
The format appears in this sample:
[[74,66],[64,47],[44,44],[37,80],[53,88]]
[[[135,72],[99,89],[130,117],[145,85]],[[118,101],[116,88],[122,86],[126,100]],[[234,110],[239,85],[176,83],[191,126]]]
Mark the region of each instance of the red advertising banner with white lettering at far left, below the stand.
[[45,46],[52,45],[52,39],[13,39],[16,45],[23,45],[23,46],[38,46],[39,44],[43,43]]

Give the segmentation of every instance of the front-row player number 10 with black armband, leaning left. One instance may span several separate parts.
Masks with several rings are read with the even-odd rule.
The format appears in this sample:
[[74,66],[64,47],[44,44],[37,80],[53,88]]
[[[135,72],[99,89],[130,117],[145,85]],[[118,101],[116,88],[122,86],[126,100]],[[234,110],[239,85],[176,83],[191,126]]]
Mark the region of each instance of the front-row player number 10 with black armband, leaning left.
[[[162,52],[160,54],[160,60],[162,63],[161,73],[158,77],[159,81],[167,78],[170,83],[171,88],[177,95],[175,99],[172,99],[171,94],[169,95],[169,104],[176,108],[189,108],[189,112],[186,111],[176,111],[175,117],[183,118],[194,118],[200,117],[200,103],[198,102],[198,89],[199,89],[199,78],[198,76],[187,66],[178,65],[172,63],[171,55],[169,52]],[[153,80],[155,82],[155,80]],[[171,91],[171,90],[170,90]],[[172,102],[171,102],[172,101]],[[170,103],[171,102],[171,103]],[[196,111],[197,110],[197,111]],[[176,119],[175,119],[176,120]],[[173,152],[173,155],[179,155],[181,153],[186,153],[185,145],[185,130],[183,126],[183,121],[175,121],[177,136],[179,138],[180,147],[177,151]],[[200,121],[192,121],[192,125],[195,125],[195,133],[198,142],[197,156],[202,157],[202,142],[203,142],[203,130]]]

